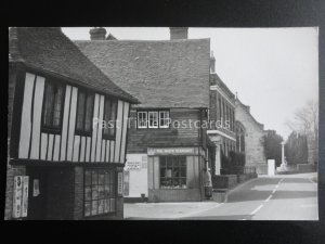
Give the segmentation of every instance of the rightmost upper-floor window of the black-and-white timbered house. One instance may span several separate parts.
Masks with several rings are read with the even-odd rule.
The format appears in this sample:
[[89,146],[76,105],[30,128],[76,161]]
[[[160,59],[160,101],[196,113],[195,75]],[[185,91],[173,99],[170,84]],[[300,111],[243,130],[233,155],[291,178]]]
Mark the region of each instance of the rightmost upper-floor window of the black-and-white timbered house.
[[117,101],[105,98],[104,105],[104,130],[103,137],[105,139],[114,139],[116,131],[116,116],[117,116]]

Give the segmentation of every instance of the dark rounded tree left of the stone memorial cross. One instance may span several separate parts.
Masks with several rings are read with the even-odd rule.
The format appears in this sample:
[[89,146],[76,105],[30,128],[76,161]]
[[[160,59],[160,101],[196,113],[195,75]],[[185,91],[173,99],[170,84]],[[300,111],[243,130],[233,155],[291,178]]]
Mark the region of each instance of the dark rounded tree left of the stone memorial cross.
[[264,155],[266,159],[275,159],[275,165],[281,165],[281,142],[283,138],[274,130],[269,130],[261,139],[261,143],[264,147]]

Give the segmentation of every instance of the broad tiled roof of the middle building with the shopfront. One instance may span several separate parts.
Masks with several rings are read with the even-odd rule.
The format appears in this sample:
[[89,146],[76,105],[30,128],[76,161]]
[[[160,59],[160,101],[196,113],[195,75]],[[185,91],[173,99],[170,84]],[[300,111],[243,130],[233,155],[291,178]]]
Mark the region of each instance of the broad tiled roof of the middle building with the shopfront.
[[139,106],[209,106],[210,39],[75,43]]

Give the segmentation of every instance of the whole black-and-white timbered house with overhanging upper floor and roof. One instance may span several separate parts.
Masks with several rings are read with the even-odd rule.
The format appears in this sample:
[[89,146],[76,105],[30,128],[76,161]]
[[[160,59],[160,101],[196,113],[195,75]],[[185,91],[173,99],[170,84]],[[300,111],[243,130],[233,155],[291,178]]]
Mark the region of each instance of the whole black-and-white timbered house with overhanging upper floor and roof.
[[9,40],[5,219],[121,219],[139,101],[60,28],[11,28]]

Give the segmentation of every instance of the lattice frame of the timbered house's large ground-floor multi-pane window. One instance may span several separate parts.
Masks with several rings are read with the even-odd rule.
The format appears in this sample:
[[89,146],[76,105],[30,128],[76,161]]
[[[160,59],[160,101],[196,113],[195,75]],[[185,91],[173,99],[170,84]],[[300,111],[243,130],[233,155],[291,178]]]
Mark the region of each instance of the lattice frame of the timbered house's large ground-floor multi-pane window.
[[[87,171],[90,171],[90,175],[91,175],[91,180],[90,180],[90,184],[89,185],[86,185],[86,172]],[[96,185],[98,185],[98,200],[92,200],[92,188],[93,188],[93,184],[92,184],[92,172],[93,171],[96,171],[96,177],[98,177],[98,182],[96,182]],[[114,176],[114,179],[113,179],[113,189],[114,189],[114,194],[113,196],[109,195],[109,197],[105,197],[105,171],[108,171],[109,174],[109,177],[112,177],[112,175]],[[99,183],[99,175],[101,175],[100,172],[104,172],[104,183],[103,183],[103,187],[104,187],[104,198],[100,198],[99,197],[99,185],[102,185]],[[109,178],[109,183],[108,185],[110,187],[112,183],[110,183],[110,178]],[[86,200],[86,188],[89,187],[91,189],[91,200],[88,201]],[[83,190],[82,190],[82,216],[83,218],[96,218],[96,217],[100,217],[100,216],[109,216],[109,215],[115,215],[117,213],[117,198],[118,198],[118,194],[117,194],[117,171],[116,169],[107,169],[107,168],[87,168],[83,170]],[[109,189],[109,191],[112,191],[112,189]],[[92,202],[93,201],[99,201],[99,200],[109,200],[109,210],[110,210],[110,200],[114,200],[114,205],[115,205],[115,208],[113,211],[107,211],[105,213],[105,203],[104,203],[104,206],[103,206],[103,213],[102,214],[96,214],[96,215],[92,215]],[[90,207],[90,215],[87,216],[86,215],[86,202],[90,202],[91,203],[91,207]],[[99,213],[99,204],[98,204],[98,213]]]

